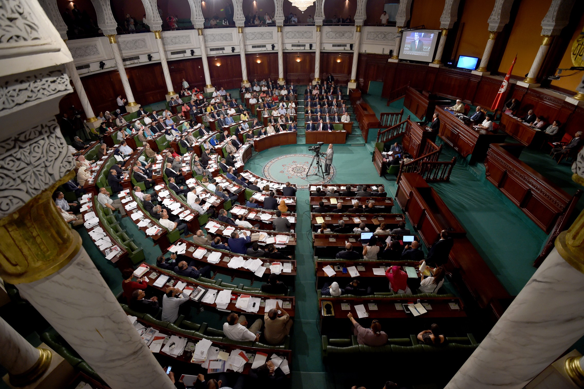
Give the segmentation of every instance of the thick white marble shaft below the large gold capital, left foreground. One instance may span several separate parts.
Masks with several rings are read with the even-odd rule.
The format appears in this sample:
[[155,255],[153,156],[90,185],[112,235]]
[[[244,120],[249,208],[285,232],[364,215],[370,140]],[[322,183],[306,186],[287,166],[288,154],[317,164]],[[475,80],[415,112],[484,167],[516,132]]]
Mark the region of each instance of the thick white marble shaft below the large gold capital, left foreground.
[[83,247],[61,270],[17,287],[110,388],[174,388]]

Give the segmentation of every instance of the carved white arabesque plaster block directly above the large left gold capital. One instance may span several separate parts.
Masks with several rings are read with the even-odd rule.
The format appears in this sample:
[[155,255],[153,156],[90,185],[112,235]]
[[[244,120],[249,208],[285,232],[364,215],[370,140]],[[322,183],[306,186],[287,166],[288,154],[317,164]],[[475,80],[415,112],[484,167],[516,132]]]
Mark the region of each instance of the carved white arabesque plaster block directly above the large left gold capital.
[[74,167],[75,160],[55,119],[2,141],[0,218],[25,205]]

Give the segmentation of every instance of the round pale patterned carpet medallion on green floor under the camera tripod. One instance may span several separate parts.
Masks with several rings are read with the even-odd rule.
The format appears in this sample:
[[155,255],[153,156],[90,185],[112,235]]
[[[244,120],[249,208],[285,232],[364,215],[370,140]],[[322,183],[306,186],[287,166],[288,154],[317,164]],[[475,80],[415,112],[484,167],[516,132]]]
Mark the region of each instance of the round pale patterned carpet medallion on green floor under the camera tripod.
[[[290,181],[291,184],[296,184],[297,188],[305,189],[310,185],[321,185],[330,182],[335,177],[335,166],[331,166],[331,174],[325,175],[323,179],[319,175],[306,176],[308,167],[312,162],[311,154],[288,154],[274,158],[263,167],[263,175],[269,180],[280,181],[285,183]],[[321,159],[322,169],[325,168],[325,160]],[[314,174],[317,171],[316,161],[310,167],[310,173]]]

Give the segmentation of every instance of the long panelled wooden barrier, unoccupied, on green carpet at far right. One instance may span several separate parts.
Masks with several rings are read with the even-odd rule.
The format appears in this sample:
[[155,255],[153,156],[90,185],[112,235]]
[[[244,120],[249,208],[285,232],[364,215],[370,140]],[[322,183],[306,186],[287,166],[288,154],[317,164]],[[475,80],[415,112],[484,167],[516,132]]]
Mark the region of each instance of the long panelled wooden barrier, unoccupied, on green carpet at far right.
[[507,147],[515,145],[491,144],[489,147],[485,160],[486,179],[539,228],[550,233],[558,217],[568,209],[572,197],[509,153]]

